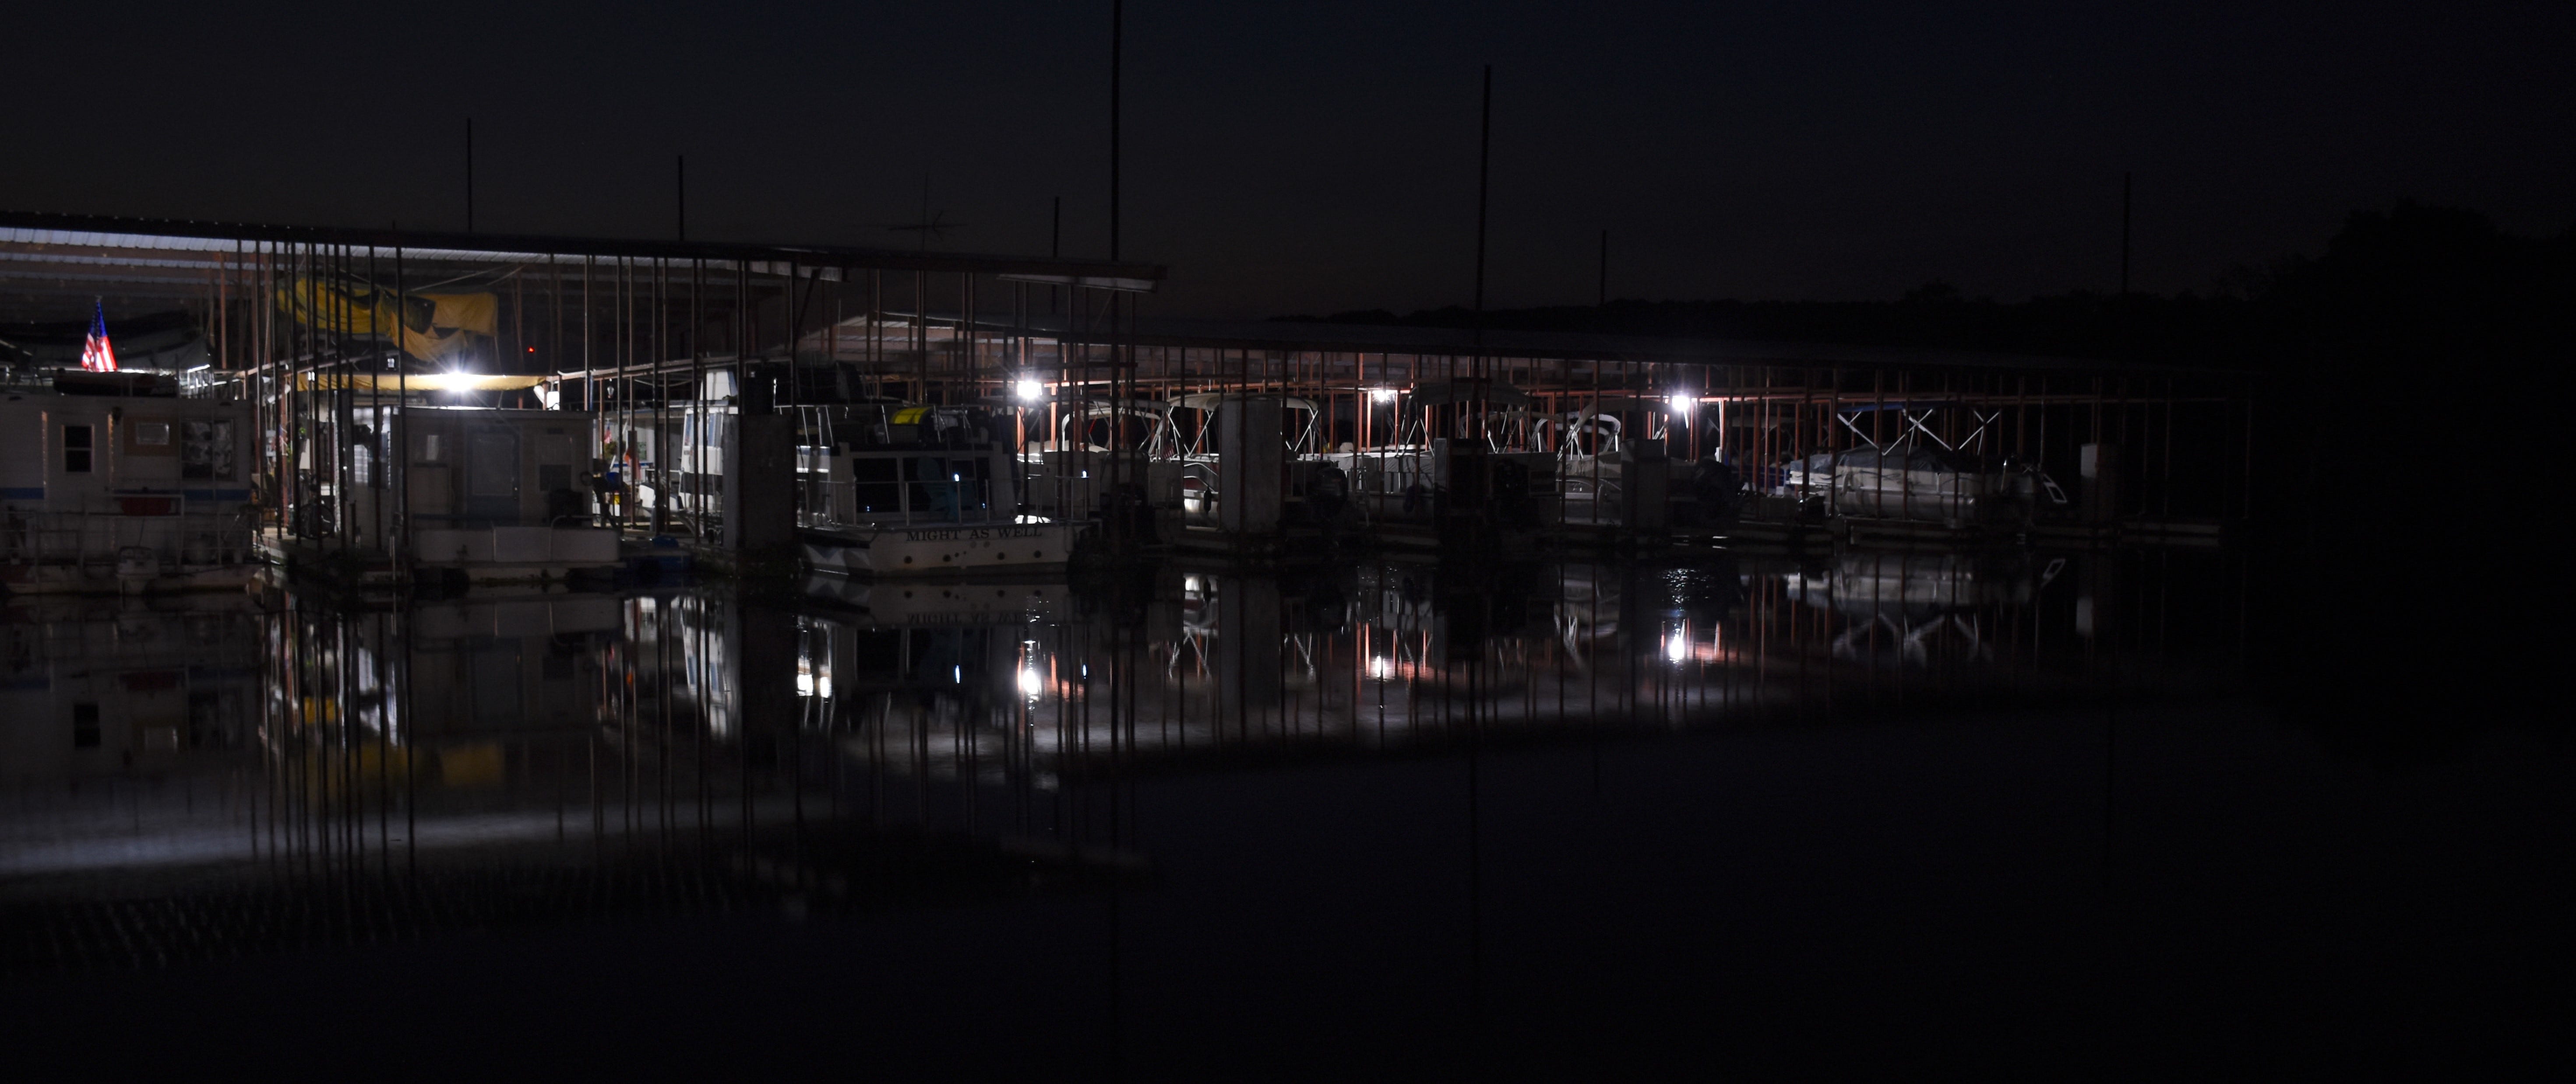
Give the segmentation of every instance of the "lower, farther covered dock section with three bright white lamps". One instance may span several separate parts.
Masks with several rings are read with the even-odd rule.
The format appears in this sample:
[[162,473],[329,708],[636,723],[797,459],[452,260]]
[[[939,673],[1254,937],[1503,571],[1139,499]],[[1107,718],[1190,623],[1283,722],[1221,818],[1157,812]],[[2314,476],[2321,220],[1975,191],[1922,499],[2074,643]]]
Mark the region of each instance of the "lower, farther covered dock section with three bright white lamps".
[[[2226,371],[1280,322],[1103,337],[1084,319],[1018,299],[1007,317],[871,312],[804,335],[770,378],[781,402],[837,386],[1015,407],[1023,510],[1115,520],[1146,548],[2205,541],[2254,500],[2251,397]],[[1262,440],[1224,481],[1226,402],[1275,404],[1244,415],[1278,445],[1275,484]],[[1249,502],[1231,525],[1229,497]]]

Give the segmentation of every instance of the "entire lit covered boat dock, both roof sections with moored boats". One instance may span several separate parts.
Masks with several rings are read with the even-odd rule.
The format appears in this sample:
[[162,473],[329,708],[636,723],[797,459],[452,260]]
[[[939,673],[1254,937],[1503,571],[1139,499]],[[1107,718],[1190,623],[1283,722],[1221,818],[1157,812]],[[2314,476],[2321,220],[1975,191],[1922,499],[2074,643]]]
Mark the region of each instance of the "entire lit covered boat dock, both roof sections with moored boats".
[[1151,265],[848,247],[0,216],[0,255],[8,319],[185,314],[265,548],[358,582],[2208,541],[2257,500],[2223,371],[1146,319]]

